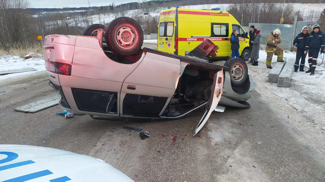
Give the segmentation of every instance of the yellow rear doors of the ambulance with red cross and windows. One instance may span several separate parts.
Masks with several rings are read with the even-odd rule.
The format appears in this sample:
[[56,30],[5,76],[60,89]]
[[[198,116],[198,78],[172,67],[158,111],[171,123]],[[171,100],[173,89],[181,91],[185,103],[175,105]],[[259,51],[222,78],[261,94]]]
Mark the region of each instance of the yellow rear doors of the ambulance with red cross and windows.
[[174,54],[174,22],[160,22],[158,28],[157,50]]

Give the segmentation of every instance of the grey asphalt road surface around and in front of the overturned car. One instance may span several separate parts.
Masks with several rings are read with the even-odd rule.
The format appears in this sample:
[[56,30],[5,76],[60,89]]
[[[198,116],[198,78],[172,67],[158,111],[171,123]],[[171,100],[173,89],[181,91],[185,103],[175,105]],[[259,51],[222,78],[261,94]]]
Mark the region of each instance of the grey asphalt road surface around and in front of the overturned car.
[[[100,158],[137,182],[325,181],[325,155],[259,93],[251,108],[212,113],[192,136],[203,110],[179,120],[65,119],[57,105],[36,113],[13,108],[55,95],[45,72],[0,81],[0,143],[58,148]],[[6,91],[6,92],[3,92]],[[150,138],[123,126],[143,128]]]

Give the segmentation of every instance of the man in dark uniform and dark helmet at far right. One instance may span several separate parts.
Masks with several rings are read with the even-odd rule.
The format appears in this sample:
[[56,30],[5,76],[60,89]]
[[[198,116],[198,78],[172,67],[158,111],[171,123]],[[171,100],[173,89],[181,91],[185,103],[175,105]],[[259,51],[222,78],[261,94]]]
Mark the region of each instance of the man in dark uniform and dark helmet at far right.
[[310,36],[307,39],[304,52],[306,54],[308,51],[309,70],[306,71],[306,73],[310,73],[310,75],[315,74],[319,49],[321,54],[324,53],[325,34],[320,31],[319,25],[315,24],[313,25],[313,31],[310,33]]

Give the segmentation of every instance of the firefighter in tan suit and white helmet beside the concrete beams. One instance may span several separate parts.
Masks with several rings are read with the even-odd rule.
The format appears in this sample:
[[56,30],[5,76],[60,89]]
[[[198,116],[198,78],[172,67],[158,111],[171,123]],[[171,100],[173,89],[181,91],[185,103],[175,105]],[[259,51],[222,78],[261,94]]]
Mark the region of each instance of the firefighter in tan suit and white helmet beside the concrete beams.
[[273,34],[270,34],[267,36],[266,39],[266,67],[272,69],[271,63],[272,63],[272,57],[273,54],[278,56],[277,61],[278,62],[284,62],[283,61],[283,49],[277,47],[279,43],[281,43],[281,39],[279,35],[281,34],[281,31],[279,28],[276,28],[273,31]]

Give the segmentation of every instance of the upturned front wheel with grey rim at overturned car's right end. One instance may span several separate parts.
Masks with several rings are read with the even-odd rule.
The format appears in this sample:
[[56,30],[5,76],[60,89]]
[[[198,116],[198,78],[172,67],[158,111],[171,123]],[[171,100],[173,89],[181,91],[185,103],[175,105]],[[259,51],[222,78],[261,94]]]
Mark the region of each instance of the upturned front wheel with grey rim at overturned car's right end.
[[224,66],[229,67],[230,81],[232,86],[238,86],[245,82],[248,76],[247,64],[241,58],[230,58]]

